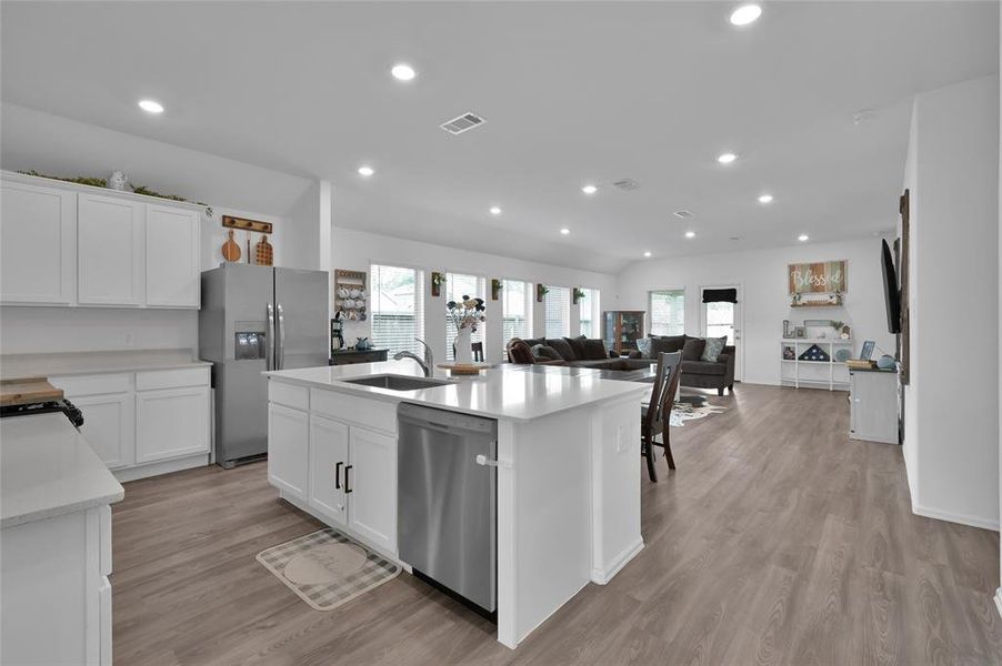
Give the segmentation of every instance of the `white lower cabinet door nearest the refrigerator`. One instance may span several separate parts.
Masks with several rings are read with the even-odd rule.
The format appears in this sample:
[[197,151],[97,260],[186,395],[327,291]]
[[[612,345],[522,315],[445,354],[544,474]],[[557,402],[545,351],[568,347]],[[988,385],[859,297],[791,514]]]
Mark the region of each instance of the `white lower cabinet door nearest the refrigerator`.
[[137,463],[199,453],[209,453],[207,386],[136,393]]

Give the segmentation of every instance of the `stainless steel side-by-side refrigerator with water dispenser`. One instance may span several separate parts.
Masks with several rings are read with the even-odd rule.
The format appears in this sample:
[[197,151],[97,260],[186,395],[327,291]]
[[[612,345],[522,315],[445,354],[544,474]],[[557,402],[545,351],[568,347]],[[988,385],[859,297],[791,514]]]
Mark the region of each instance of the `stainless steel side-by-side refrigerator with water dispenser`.
[[212,362],[216,462],[268,453],[265,370],[328,364],[327,271],[228,263],[202,273],[199,350]]

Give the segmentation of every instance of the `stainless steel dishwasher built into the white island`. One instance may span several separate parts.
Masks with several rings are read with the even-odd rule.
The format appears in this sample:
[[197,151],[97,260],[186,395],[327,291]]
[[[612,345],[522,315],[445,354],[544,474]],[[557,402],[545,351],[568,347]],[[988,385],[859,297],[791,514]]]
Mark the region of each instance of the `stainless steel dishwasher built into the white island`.
[[498,422],[397,408],[400,559],[487,614],[498,607]]

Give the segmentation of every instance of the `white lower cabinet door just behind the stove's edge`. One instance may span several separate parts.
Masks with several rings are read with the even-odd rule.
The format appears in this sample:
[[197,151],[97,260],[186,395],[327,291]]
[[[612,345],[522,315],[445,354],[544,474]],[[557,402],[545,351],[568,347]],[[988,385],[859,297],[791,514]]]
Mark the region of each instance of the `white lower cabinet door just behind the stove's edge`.
[[83,412],[80,433],[108,468],[136,463],[136,405],[131,393],[67,397]]

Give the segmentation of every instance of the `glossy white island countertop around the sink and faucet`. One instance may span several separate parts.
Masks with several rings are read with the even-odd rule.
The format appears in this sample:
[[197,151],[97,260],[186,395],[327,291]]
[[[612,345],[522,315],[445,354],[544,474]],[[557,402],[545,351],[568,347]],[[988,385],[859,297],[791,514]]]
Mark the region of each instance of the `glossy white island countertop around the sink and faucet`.
[[582,367],[503,364],[477,376],[449,376],[435,370],[434,379],[448,380],[444,386],[417,391],[391,391],[343,380],[374,374],[423,376],[412,360],[385,361],[280,370],[265,372],[272,380],[365,395],[373,400],[409,402],[430,407],[529,421],[565,410],[635,395],[638,405],[650,384],[600,377],[600,372]]

